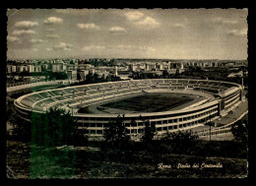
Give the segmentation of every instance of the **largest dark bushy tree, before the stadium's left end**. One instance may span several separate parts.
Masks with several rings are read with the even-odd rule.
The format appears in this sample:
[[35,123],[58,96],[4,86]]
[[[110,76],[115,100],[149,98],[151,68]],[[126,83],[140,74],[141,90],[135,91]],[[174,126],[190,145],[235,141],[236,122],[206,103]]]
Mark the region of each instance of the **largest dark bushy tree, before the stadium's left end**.
[[[50,108],[46,113],[32,113],[32,144],[44,147],[76,145],[87,140],[69,112]],[[81,142],[80,142],[81,144]]]

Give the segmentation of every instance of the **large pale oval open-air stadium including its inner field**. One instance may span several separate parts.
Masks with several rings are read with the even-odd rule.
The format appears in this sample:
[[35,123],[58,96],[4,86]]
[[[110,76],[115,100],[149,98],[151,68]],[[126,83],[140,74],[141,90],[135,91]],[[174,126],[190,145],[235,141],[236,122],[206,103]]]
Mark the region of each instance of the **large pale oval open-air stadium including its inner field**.
[[[190,79],[146,79],[107,82],[25,94],[15,100],[23,119],[50,107],[72,113],[90,139],[101,140],[110,121],[124,116],[126,133],[134,140],[144,132],[144,121],[166,132],[190,130],[220,119],[237,106],[242,86],[229,82]],[[131,126],[135,120],[136,125]]]

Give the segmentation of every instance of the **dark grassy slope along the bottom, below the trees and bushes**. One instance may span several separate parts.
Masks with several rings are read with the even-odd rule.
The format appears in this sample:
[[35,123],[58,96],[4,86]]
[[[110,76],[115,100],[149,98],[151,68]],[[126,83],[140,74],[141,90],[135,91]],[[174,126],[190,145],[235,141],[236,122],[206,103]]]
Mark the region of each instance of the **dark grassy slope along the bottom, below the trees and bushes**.
[[[32,152],[32,153],[31,153]],[[178,163],[223,164],[223,168],[177,168]],[[159,169],[158,164],[171,165]],[[153,154],[146,151],[39,150],[19,142],[7,143],[7,164],[17,178],[208,178],[244,177],[247,159],[195,155]]]

